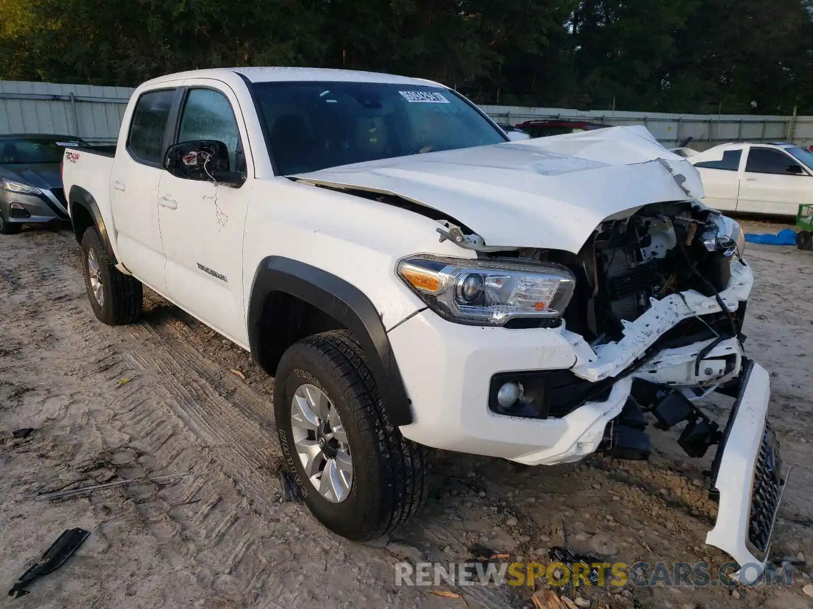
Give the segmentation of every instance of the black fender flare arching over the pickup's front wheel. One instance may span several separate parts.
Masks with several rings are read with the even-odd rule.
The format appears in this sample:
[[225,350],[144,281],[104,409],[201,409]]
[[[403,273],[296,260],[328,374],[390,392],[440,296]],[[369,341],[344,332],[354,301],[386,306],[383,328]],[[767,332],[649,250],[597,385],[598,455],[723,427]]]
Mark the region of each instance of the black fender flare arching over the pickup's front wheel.
[[411,402],[380,315],[358,287],[325,270],[290,258],[263,258],[251,285],[248,334],[251,355],[269,372],[278,361],[263,361],[263,307],[272,292],[285,292],[327,313],[359,341],[376,381],[385,412],[395,426],[412,422]]

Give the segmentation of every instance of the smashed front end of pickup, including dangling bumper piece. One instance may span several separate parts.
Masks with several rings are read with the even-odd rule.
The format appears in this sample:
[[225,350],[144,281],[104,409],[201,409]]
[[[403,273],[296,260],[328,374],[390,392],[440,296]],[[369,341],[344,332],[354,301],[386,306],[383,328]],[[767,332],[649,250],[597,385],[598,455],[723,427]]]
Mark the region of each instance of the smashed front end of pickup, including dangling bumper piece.
[[[576,277],[561,329],[576,361],[570,369],[495,375],[492,411],[550,418],[576,416],[581,408],[601,412],[602,404],[614,409],[604,412],[611,418],[600,439],[589,437],[593,428],[569,455],[540,452],[522,461],[563,462],[592,451],[645,460],[650,421],[660,430],[685,425],[678,443],[689,457],[716,447],[707,475],[720,512],[706,542],[732,555],[741,565],[738,577],[753,583],[767,561],[785,480],[766,418],[768,375],[744,355],[753,275],[742,247],[736,222],[695,201],[609,218],[577,254],[524,249],[480,256],[553,262]],[[498,400],[500,391],[517,399]],[[711,391],[736,398],[724,427],[699,406]]]

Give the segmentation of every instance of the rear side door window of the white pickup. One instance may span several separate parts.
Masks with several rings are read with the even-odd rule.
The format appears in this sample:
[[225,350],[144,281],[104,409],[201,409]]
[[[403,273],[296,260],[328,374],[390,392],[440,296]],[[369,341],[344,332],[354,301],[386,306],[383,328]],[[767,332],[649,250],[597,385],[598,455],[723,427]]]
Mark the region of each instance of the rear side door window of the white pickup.
[[149,91],[141,95],[130,120],[127,149],[138,162],[161,166],[164,133],[175,89]]

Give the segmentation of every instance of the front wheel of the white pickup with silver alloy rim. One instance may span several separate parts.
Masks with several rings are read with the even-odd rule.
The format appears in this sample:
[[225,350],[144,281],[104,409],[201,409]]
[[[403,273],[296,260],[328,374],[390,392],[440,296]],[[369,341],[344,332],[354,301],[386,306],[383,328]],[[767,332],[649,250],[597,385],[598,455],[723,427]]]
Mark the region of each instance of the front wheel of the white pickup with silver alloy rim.
[[307,337],[282,356],[274,414],[299,495],[342,537],[403,525],[427,495],[427,451],[389,422],[362,349],[347,330]]

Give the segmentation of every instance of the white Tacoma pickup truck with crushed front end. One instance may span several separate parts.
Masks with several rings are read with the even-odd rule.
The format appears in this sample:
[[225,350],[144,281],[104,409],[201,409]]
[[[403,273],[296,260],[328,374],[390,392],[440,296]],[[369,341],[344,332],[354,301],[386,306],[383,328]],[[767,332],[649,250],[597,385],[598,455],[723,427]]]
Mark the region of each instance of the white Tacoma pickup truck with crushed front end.
[[99,320],[133,322],[145,284],[250,351],[333,531],[413,515],[426,447],[646,459],[656,421],[689,457],[716,445],[706,542],[761,572],[784,481],[741,230],[646,129],[512,142],[427,80],[190,71],[142,84],[115,156],[67,150],[63,176]]

